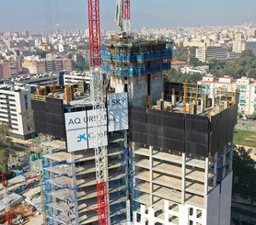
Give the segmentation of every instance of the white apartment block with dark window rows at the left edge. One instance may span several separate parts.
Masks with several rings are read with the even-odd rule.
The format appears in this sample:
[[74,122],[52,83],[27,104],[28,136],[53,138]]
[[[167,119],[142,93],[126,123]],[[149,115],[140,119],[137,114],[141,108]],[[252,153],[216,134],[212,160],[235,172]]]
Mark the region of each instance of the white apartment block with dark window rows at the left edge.
[[12,129],[12,136],[27,140],[34,132],[24,113],[31,108],[29,86],[0,85],[0,122]]

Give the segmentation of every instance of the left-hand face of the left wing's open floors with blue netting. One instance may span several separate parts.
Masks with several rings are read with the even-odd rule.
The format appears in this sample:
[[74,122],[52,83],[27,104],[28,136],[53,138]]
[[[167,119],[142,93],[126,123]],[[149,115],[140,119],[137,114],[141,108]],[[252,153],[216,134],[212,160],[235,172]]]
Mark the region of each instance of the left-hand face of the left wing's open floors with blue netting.
[[42,155],[43,180],[48,224],[76,224],[76,186],[71,172],[72,160],[66,152]]

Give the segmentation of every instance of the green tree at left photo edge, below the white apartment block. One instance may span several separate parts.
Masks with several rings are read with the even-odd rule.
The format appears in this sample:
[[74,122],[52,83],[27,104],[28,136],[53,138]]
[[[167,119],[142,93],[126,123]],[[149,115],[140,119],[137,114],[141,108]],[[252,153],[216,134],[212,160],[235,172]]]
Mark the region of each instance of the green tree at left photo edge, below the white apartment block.
[[12,141],[9,138],[10,127],[6,123],[0,123],[0,163],[8,163],[9,148]]

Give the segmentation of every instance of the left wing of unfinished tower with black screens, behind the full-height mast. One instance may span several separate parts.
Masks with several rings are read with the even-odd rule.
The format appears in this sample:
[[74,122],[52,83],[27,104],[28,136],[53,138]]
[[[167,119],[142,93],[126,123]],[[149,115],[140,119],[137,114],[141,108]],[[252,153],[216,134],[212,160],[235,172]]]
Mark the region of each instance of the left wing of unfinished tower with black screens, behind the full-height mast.
[[[95,149],[90,145],[91,141],[95,140],[95,136],[93,137],[95,131],[86,127],[81,130],[85,139],[75,140],[75,145],[79,145],[79,142],[82,144],[82,147],[77,150],[75,145],[70,145],[70,142],[74,138],[77,139],[78,134],[70,141],[67,125],[64,123],[66,117],[74,115],[76,118],[76,115],[81,115],[81,113],[85,117],[92,112],[89,96],[86,94],[76,96],[76,93],[79,93],[77,85],[73,87],[67,85],[65,89],[56,87],[54,95],[49,89],[47,93],[44,93],[47,96],[37,94],[32,96],[36,129],[43,134],[64,139],[67,145],[67,150],[54,150],[43,155],[43,176],[49,224],[98,224],[99,220]],[[127,103],[127,95],[124,97]],[[124,101],[123,97],[122,101]],[[108,111],[110,112],[110,107]],[[128,116],[128,109],[126,112]],[[129,200],[128,127],[118,126],[119,129],[112,129],[110,125],[115,124],[119,117],[120,115],[109,119],[107,123],[109,132],[104,132],[104,137],[107,139],[105,165],[110,224],[122,224],[126,221],[126,204]],[[122,114],[122,121],[123,119]],[[126,124],[128,126],[128,120]],[[85,141],[84,145],[82,141]]]

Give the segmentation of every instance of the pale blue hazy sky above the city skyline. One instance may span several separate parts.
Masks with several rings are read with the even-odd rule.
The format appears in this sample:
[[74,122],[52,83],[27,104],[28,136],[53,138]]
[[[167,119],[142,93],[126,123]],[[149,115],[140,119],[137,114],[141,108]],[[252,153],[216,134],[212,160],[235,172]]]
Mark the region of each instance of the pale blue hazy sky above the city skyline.
[[[45,30],[44,1],[0,0],[0,31]],[[51,0],[52,25],[87,28],[87,0]],[[115,29],[116,0],[100,0],[102,29]],[[256,22],[256,0],[131,0],[132,28],[233,25]]]

